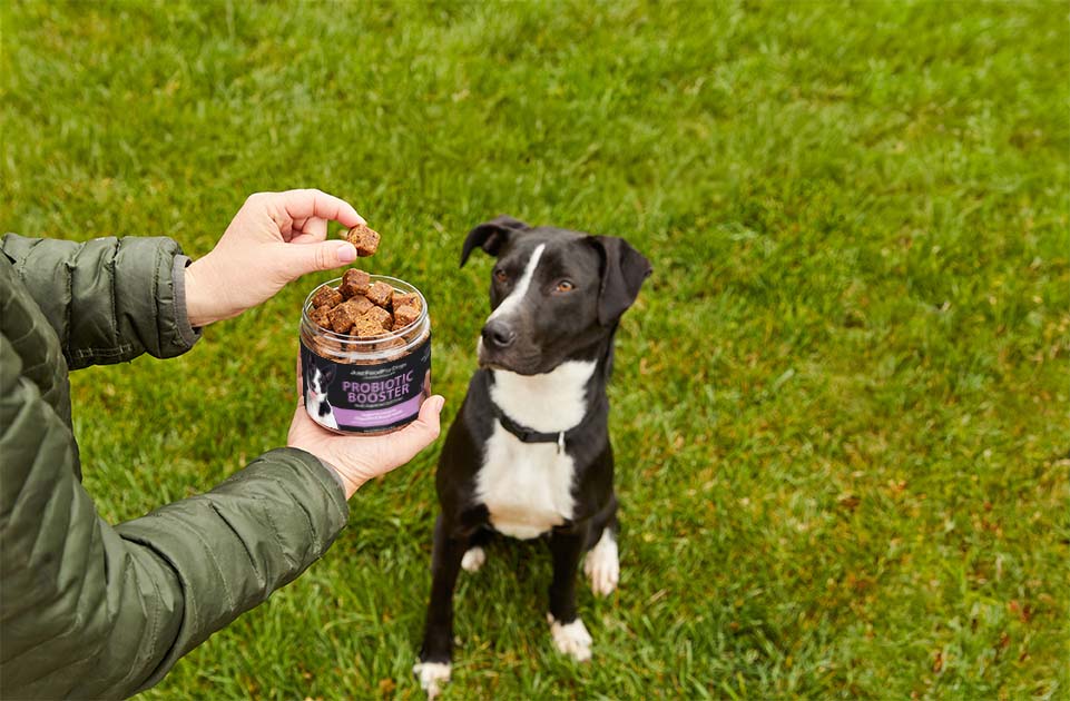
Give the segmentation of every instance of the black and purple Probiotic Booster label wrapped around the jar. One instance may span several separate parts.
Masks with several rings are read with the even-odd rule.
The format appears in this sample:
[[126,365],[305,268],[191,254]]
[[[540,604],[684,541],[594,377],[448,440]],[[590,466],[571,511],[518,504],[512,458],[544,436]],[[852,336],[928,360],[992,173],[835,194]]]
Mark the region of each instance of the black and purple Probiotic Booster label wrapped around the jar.
[[372,433],[408,424],[431,396],[431,336],[404,356],[337,363],[301,342],[305,409],[325,428]]

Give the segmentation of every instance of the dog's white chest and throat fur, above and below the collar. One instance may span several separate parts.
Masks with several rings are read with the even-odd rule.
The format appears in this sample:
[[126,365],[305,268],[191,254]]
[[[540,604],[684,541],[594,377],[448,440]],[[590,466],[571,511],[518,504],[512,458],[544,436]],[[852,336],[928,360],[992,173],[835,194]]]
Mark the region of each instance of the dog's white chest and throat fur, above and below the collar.
[[[541,433],[583,419],[593,362],[570,361],[543,375],[494,371],[491,399],[517,423]],[[576,465],[556,443],[523,443],[500,423],[487,442],[475,496],[500,533],[532,539],[572,517]]]

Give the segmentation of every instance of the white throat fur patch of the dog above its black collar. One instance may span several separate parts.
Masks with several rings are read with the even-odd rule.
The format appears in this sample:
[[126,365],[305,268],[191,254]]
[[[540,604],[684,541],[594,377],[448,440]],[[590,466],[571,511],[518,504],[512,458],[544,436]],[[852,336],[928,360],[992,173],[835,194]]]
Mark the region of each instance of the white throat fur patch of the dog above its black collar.
[[587,383],[595,361],[566,361],[549,373],[495,369],[490,398],[514,422],[540,433],[568,431],[587,413]]

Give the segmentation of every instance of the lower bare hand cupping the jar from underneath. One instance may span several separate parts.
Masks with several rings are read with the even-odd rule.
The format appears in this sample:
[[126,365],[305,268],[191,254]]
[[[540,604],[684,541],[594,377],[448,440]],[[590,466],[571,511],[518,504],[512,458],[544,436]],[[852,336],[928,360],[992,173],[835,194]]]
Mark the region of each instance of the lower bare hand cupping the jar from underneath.
[[314,422],[301,396],[301,364],[297,365],[297,411],[289,424],[286,445],[312,453],[328,463],[342,477],[345,498],[361,485],[404,465],[439,437],[439,414],[445,398],[431,396],[420,406],[420,416],[401,431],[381,436],[341,435]]

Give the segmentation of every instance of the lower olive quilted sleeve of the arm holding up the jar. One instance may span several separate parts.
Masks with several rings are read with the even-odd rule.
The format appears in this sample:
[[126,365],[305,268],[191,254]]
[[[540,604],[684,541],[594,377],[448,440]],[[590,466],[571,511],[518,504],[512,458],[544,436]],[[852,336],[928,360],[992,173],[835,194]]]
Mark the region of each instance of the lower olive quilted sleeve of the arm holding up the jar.
[[0,698],[124,698],[318,559],[346,522],[312,455],[272,451],[111,527],[63,422],[0,336]]

